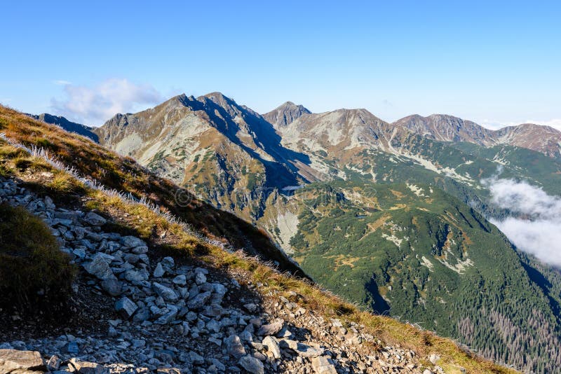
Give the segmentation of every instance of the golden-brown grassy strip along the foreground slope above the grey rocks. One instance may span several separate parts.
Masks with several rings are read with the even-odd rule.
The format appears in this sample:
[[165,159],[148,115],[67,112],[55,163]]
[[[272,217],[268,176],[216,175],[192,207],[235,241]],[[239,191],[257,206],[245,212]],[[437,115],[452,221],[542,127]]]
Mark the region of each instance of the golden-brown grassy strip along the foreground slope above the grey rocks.
[[[21,113],[4,107],[0,107],[0,131],[6,132],[9,137],[18,139],[25,144],[47,146],[53,150],[53,153],[60,160],[79,168],[83,174],[92,175],[103,183],[122,191],[130,191],[130,193],[137,195],[146,193],[154,201],[181,213],[181,209],[166,201],[173,197],[173,194],[170,194],[171,189],[175,187],[167,181],[145,174],[133,160],[119,158],[114,153],[105,151],[86,139],[30,120]],[[7,144],[0,144],[0,146],[0,172],[3,174],[9,173],[20,179],[25,179],[25,174],[30,168],[43,171],[50,169],[41,160],[26,158],[12,146]],[[17,165],[20,165],[20,167]],[[325,318],[337,316],[342,321],[356,321],[364,324],[370,333],[384,343],[409,347],[425,359],[432,352],[438,353],[441,356],[439,364],[447,370],[447,373],[459,373],[457,366],[466,368],[468,373],[514,373],[514,370],[503,368],[464,352],[452,340],[440,338],[395,319],[363,312],[356,306],[346,303],[330,293],[320,291],[317,286],[313,286],[313,284],[302,279],[281,274],[255,258],[247,258],[241,252],[231,254],[219,247],[198,240],[186,233],[181,226],[166,221],[147,207],[131,205],[119,198],[110,198],[99,191],[84,188],[75,181],[68,181],[65,176],[60,175],[60,172],[50,171],[55,173],[58,179],[66,182],[55,186],[43,186],[40,181],[36,181],[36,183],[39,183],[39,187],[45,188],[51,194],[59,191],[65,194],[81,195],[82,198],[88,200],[88,207],[99,209],[100,212],[111,216],[121,225],[136,230],[144,240],[154,245],[166,247],[177,256],[190,256],[196,260],[204,261],[209,266],[225,270],[247,272],[248,279],[252,282],[266,284],[264,292],[270,289],[287,291],[286,296],[290,298],[288,291],[296,291],[302,295],[302,298],[299,299],[301,305],[322,314]],[[158,193],[161,193],[161,195],[158,195]],[[64,197],[63,195],[62,198]],[[181,214],[182,218],[199,228],[208,225],[205,232],[212,237],[219,237],[218,235],[221,234],[222,230],[227,230],[227,220],[231,219],[229,216],[220,216],[218,212],[212,212],[210,207],[204,205],[201,207],[200,202],[197,202],[197,204],[200,210],[194,207],[189,211],[189,214]],[[203,219],[208,219],[208,221]],[[239,225],[237,226],[238,230],[245,228],[241,226],[241,223],[237,224]],[[252,228],[252,226],[248,226],[248,228]],[[165,242],[161,240],[163,232],[168,233],[165,236]],[[243,237],[242,234],[238,233],[238,238]],[[254,238],[254,241],[257,242],[257,239]]]

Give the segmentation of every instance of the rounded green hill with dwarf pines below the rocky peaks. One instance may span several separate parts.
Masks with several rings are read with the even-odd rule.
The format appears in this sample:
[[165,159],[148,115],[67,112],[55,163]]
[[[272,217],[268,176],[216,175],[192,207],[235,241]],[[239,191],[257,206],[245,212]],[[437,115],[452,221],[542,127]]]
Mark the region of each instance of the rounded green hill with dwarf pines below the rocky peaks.
[[537,282],[496,227],[433,186],[375,188],[306,186],[291,244],[307,274],[367,309],[497,361],[539,372],[559,367],[559,314],[548,297],[556,290]]

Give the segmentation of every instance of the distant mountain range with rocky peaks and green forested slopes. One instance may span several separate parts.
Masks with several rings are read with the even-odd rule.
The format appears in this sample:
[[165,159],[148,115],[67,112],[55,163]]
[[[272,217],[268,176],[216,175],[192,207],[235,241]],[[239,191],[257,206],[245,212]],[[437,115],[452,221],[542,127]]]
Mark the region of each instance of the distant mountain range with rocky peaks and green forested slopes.
[[[41,115],[253,223],[327,289],[525,370],[561,368],[561,275],[488,219],[485,179],[561,195],[561,132],[179,95],[97,128]],[[328,270],[326,272],[326,270]],[[539,331],[536,326],[541,326]],[[544,352],[547,352],[545,354]]]

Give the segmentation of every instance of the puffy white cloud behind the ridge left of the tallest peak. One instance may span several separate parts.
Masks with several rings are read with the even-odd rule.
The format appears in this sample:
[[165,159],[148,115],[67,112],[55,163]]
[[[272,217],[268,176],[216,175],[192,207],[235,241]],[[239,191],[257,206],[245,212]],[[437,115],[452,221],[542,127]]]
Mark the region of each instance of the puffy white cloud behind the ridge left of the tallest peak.
[[102,125],[116,113],[139,111],[163,101],[151,85],[137,85],[127,79],[111,78],[95,85],[64,85],[67,98],[51,99],[54,114],[86,125]]

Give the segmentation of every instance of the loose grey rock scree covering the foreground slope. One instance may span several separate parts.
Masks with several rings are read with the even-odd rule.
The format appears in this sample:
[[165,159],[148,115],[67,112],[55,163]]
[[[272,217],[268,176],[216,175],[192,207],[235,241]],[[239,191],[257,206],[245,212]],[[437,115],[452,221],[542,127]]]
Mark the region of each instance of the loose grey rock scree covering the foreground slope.
[[[0,179],[0,186],[1,201],[41,216],[62,251],[80,265],[76,299],[88,310],[83,313],[96,319],[95,328],[69,326],[35,335],[22,333],[28,326],[13,323],[19,321],[13,314],[0,331],[8,340],[0,344],[2,373],[12,367],[10,361],[25,361],[21,350],[41,353],[23,363],[27,368],[55,373],[425,371],[411,350],[374,352],[361,344],[376,341],[363,326],[326,320],[300,307],[297,293],[289,294],[293,301],[280,293],[262,298],[257,292],[262,284],[244,282],[243,273],[231,276],[175,261],[137,236],[107,230],[110,221],[95,212],[57,206],[10,179]],[[83,298],[85,289],[99,298]],[[99,312],[94,302],[114,307]],[[429,371],[443,373],[433,366]]]

